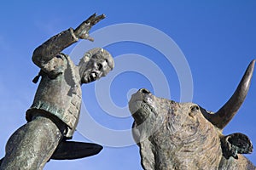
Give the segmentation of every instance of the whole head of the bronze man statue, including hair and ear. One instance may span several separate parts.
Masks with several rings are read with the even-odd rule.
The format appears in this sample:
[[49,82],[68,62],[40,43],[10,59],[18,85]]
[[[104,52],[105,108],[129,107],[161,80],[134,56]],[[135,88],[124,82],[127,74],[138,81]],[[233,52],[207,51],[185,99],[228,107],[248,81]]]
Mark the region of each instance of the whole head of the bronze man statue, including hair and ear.
[[79,62],[81,83],[94,82],[105,77],[113,70],[114,61],[111,54],[103,48],[93,48],[86,52]]

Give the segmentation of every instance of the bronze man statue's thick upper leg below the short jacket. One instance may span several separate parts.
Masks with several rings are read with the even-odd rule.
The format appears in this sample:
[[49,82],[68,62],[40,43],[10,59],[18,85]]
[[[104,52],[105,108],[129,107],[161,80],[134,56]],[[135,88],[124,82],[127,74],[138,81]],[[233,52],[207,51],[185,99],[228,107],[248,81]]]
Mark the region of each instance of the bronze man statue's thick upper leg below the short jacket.
[[44,116],[37,116],[12,134],[6,144],[6,155],[0,169],[43,169],[62,136],[54,122]]

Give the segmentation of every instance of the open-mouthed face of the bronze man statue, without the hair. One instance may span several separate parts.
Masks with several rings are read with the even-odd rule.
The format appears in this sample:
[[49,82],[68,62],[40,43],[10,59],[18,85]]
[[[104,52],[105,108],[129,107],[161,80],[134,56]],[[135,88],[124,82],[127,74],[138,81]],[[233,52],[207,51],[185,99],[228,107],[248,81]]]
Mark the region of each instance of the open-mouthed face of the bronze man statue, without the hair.
[[109,65],[109,59],[91,58],[82,74],[82,83],[94,82],[101,77],[105,77],[112,69]]

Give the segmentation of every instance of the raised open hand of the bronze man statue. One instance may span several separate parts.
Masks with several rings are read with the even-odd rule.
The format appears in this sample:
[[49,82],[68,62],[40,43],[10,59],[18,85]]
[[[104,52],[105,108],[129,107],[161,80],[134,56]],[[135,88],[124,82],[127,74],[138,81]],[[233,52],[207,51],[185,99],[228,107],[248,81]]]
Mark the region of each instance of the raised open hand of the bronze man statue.
[[96,14],[92,14],[87,20],[85,20],[74,30],[74,34],[80,39],[88,39],[90,41],[94,41],[94,39],[89,36],[90,28],[96,25],[96,23],[98,23],[100,20],[103,20],[105,17],[105,14],[98,16],[96,16]]

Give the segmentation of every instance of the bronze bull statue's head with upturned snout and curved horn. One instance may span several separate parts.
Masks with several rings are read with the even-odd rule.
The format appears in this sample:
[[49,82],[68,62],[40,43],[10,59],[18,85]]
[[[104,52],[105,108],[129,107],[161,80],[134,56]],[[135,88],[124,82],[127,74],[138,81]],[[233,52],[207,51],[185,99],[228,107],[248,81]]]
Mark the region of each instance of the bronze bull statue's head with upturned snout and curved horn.
[[141,88],[132,94],[133,138],[145,170],[256,169],[241,154],[253,151],[245,134],[224,135],[247,96],[255,60],[247,67],[235,93],[216,113],[193,103],[155,97]]

